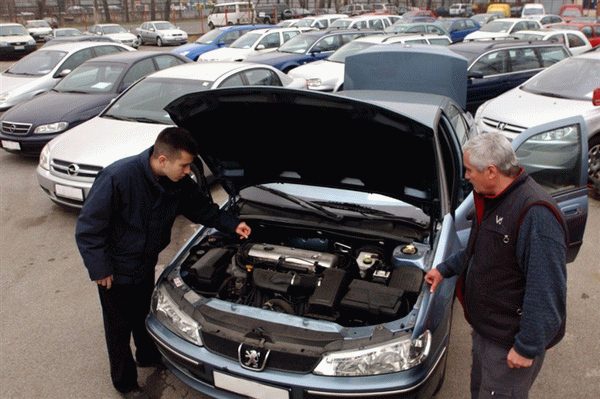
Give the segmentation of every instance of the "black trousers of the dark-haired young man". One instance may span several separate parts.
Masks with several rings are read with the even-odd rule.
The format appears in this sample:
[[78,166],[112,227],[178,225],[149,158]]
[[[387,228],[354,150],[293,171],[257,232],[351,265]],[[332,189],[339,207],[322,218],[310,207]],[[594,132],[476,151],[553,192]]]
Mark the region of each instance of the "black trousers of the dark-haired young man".
[[[161,355],[146,330],[154,279],[138,284],[113,284],[110,289],[98,286],[104,332],[114,387],[122,393],[138,388],[136,360],[140,364],[160,361]],[[131,350],[135,344],[135,359]]]

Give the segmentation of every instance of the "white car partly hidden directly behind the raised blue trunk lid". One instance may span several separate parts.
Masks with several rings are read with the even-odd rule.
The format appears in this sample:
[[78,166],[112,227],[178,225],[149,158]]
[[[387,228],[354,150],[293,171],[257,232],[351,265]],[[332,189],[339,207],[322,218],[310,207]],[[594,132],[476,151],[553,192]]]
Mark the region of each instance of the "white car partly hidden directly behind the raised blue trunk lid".
[[445,35],[420,34],[420,35],[374,35],[354,39],[340,47],[328,58],[300,65],[288,72],[293,78],[304,78],[308,88],[318,91],[337,92],[344,85],[344,62],[346,57],[356,54],[361,50],[376,44],[439,44],[448,46],[452,43]]

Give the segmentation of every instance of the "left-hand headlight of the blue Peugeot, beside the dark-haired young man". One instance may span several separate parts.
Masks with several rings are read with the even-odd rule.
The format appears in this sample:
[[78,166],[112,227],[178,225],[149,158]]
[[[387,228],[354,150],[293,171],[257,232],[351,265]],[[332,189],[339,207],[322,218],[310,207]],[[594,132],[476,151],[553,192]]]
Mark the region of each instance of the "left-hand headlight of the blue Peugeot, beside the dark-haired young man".
[[173,301],[164,286],[160,286],[154,293],[154,312],[169,330],[194,345],[203,345],[200,326]]

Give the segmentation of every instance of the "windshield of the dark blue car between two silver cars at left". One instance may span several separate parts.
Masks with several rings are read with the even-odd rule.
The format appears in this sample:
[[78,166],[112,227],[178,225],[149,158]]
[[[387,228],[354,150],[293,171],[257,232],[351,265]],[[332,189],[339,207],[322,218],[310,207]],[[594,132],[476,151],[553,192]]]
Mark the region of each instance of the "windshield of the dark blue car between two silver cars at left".
[[124,69],[123,64],[81,65],[65,76],[54,91],[61,93],[108,93],[117,82]]

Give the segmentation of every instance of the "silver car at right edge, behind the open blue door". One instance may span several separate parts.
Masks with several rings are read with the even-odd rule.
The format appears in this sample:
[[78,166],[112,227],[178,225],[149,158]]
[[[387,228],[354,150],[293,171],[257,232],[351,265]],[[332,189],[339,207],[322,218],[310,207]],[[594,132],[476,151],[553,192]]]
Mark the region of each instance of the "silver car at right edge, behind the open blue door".
[[[500,131],[517,139],[529,127],[581,115],[586,124],[590,179],[600,179],[600,53],[577,55],[535,75],[522,85],[479,107],[475,115],[478,132]],[[553,173],[567,173],[565,154],[576,139],[572,130],[556,131],[544,140],[552,151],[545,157],[556,162]],[[586,140],[583,140],[586,141]],[[542,159],[542,160],[545,160]],[[584,157],[584,161],[587,161]],[[587,164],[587,162],[586,162]],[[560,179],[557,179],[560,181]]]

